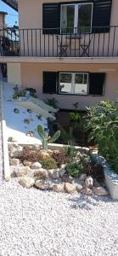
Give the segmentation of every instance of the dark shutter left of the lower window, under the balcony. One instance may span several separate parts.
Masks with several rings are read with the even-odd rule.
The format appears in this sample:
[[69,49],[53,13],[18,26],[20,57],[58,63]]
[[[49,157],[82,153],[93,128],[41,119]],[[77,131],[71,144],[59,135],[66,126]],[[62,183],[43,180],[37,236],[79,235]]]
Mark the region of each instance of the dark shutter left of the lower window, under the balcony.
[[43,93],[55,94],[57,92],[57,73],[43,72]]

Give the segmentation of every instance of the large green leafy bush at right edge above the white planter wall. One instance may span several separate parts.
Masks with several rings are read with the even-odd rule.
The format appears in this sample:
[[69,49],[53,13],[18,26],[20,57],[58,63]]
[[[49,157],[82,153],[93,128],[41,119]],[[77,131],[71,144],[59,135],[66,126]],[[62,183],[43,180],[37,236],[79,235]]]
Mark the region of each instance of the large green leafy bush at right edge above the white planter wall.
[[87,108],[85,130],[88,141],[94,141],[98,151],[118,173],[118,109],[109,101]]

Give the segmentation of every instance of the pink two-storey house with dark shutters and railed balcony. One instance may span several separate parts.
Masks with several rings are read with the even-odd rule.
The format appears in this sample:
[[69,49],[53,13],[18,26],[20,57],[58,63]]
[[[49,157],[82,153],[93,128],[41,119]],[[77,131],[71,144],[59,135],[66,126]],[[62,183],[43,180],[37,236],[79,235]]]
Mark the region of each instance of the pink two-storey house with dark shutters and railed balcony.
[[18,0],[19,40],[13,41],[19,55],[14,49],[0,57],[8,63],[8,80],[36,88],[42,99],[54,97],[63,109],[114,101],[117,9],[117,0]]

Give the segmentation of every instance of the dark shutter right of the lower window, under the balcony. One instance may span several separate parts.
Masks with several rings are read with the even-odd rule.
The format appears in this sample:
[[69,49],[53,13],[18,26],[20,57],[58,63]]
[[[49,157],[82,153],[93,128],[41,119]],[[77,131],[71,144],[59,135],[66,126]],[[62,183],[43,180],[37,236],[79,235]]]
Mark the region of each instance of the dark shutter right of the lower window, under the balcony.
[[89,94],[103,96],[105,73],[90,73]]

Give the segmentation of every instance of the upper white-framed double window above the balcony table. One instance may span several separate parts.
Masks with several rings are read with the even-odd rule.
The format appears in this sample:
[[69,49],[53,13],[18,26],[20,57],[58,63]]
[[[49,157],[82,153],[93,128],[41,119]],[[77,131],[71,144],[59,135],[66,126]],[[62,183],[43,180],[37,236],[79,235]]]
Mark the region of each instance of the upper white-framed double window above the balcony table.
[[93,3],[63,4],[61,6],[61,32],[91,32]]

